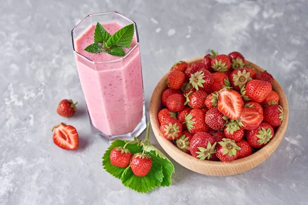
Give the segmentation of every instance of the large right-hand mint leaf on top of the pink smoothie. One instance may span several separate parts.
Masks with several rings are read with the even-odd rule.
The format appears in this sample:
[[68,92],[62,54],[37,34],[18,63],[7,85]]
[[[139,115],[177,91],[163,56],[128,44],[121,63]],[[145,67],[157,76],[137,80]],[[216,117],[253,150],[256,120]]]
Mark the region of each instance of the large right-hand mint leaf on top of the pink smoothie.
[[120,46],[129,48],[132,37],[134,33],[133,24],[127,25],[115,32],[108,40],[107,45],[110,46]]

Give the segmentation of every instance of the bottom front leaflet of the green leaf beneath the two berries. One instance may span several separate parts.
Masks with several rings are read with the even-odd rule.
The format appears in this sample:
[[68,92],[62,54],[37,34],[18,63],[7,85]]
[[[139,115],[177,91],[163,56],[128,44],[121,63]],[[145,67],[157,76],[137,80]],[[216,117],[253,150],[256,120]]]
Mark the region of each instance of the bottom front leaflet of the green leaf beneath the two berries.
[[125,187],[137,192],[146,193],[160,186],[163,177],[161,163],[152,159],[152,167],[146,176],[138,177],[132,173],[130,167],[127,167],[122,174],[121,181]]

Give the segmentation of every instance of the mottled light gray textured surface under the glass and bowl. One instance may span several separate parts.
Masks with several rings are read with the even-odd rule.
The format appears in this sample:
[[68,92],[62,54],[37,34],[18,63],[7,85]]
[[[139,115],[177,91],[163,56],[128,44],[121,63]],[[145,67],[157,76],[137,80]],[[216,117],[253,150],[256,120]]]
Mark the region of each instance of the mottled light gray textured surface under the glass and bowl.
[[[200,2],[1,1],[0,204],[307,204],[307,1]],[[173,185],[148,194],[106,173],[107,144],[91,136],[70,31],[87,14],[112,10],[137,22],[147,110],[170,66],[209,48],[238,50],[271,72],[290,108],[274,154],[229,177],[200,175],[174,162]],[[75,117],[56,114],[62,98],[79,101]],[[50,128],[61,121],[78,129],[77,151],[53,145]],[[153,134],[151,140],[159,147]]]

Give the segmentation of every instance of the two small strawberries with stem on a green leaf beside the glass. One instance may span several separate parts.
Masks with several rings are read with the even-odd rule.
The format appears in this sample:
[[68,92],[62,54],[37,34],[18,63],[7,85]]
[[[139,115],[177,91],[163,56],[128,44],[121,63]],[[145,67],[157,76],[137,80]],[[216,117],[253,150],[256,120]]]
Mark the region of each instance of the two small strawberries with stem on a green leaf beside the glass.
[[149,192],[171,185],[175,168],[171,161],[149,141],[150,124],[145,141],[114,140],[103,156],[103,167],[123,185],[137,192]]

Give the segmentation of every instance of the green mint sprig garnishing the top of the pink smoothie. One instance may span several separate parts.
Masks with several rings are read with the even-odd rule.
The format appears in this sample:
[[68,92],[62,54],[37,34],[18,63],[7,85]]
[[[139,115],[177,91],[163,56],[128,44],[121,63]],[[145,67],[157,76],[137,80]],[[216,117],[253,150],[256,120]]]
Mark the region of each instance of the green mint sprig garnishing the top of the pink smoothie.
[[121,47],[130,47],[133,34],[133,24],[121,28],[111,36],[98,22],[94,31],[94,43],[87,46],[85,51],[90,53],[106,52],[113,56],[124,56],[125,51]]

